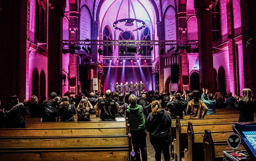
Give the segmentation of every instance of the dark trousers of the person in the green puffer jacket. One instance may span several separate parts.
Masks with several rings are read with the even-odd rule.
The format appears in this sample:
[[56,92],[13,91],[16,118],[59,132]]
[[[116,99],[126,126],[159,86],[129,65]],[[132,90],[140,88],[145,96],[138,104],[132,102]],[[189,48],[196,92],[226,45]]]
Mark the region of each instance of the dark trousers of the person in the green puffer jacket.
[[141,161],[141,158],[142,161],[147,161],[146,129],[131,130],[130,133],[132,134],[132,146],[136,157],[135,161]]

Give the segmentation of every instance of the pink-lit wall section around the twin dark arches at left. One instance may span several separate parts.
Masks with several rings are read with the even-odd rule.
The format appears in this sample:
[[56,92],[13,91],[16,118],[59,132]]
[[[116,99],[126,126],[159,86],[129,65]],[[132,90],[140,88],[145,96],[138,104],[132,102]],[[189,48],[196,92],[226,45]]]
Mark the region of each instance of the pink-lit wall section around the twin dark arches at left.
[[[31,51],[31,55],[29,57],[29,99],[31,99],[32,95],[32,72],[35,68],[37,68],[39,72],[39,76],[42,70],[45,72],[45,80],[46,80],[46,97],[47,95],[47,87],[48,87],[48,67],[47,67],[47,57],[35,53]],[[38,97],[38,96],[37,96]]]

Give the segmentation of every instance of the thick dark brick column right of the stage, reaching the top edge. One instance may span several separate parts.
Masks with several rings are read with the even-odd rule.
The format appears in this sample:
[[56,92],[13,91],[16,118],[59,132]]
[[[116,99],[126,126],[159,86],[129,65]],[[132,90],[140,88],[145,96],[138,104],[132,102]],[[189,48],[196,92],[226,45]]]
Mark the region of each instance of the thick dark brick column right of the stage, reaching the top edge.
[[211,0],[194,0],[198,22],[200,89],[214,91]]

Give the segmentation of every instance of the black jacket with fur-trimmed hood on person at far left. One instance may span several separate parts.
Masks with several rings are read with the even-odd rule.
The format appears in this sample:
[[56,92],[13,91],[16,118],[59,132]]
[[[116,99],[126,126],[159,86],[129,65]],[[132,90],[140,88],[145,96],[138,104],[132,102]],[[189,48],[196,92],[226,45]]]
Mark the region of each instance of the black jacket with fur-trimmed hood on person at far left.
[[29,115],[29,108],[23,103],[5,108],[5,128],[26,128],[25,116]]

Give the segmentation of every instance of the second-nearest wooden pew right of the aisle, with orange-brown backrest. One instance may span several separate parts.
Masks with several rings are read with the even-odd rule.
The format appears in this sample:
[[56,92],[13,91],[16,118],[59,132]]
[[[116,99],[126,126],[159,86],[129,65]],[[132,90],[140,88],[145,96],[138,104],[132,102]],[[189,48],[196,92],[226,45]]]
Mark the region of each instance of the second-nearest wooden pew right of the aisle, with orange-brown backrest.
[[[212,138],[214,142],[222,141],[226,142],[227,137],[233,134],[232,125],[234,123],[222,123],[222,124],[205,124],[205,125],[192,125],[189,122],[187,128],[188,135],[188,149],[184,150],[185,161],[198,161],[204,160],[204,148],[203,148],[203,136],[204,129],[209,128],[212,132]],[[226,143],[227,145],[227,143]],[[226,148],[229,148],[227,146]],[[227,150],[227,149],[226,149]],[[223,152],[222,152],[223,155]]]

